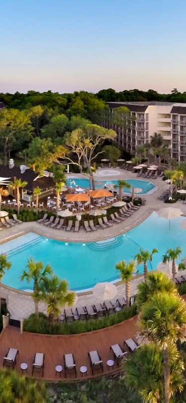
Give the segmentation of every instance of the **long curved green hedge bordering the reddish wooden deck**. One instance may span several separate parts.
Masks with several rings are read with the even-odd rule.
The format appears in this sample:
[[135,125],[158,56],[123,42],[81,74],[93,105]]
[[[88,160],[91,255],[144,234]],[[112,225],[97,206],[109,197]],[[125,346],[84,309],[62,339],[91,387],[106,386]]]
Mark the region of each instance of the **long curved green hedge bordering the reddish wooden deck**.
[[29,318],[24,320],[23,330],[24,332],[41,333],[45,335],[75,335],[117,325],[135,315],[137,315],[137,307],[135,304],[106,317],[70,323],[56,322],[55,325],[52,325],[49,322],[49,318],[42,313],[39,313],[39,318],[37,318],[35,314],[31,314]]

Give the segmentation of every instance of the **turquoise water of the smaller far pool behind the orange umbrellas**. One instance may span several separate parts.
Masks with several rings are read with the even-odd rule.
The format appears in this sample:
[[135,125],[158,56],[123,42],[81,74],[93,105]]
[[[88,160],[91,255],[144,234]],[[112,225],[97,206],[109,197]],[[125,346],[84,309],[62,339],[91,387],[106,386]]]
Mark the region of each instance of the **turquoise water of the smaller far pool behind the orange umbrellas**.
[[[139,192],[138,195],[145,194],[155,188],[155,185],[153,185],[153,183],[151,183],[149,181],[141,181],[139,179],[126,179],[126,181],[130,184],[131,188],[130,189],[124,188],[125,193],[131,193],[132,186],[134,186],[134,188],[141,189],[141,192]],[[118,181],[107,181],[107,180],[106,181],[95,181],[96,188],[102,188],[102,185],[100,185],[101,182],[103,184],[103,187],[105,184],[117,185],[117,183],[118,183]],[[74,188],[75,185],[78,185],[79,187],[82,187],[82,188],[89,188],[89,180],[85,179],[85,178],[73,178],[73,177],[67,178],[67,183],[69,186],[72,186],[72,188]]]

